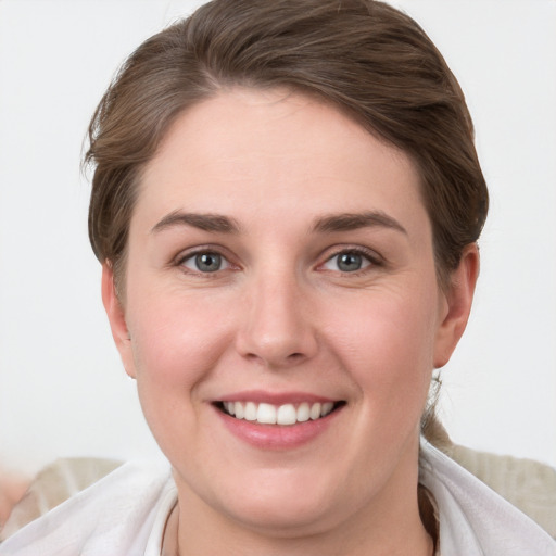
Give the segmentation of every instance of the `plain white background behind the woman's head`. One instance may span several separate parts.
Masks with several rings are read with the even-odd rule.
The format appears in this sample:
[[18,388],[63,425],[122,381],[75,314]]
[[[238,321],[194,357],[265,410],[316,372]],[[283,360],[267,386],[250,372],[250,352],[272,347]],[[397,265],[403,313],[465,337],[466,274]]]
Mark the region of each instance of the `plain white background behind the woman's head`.
[[[0,465],[160,457],[88,245],[88,118],[119,62],[199,2],[0,0]],[[492,198],[468,331],[445,368],[459,443],[556,466],[556,2],[405,0],[475,117]]]

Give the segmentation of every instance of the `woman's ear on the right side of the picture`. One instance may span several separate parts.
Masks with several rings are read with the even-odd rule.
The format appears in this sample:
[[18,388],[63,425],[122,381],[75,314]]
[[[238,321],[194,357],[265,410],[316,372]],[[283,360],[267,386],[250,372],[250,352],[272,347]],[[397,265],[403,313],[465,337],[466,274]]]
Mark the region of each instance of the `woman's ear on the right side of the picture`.
[[434,344],[434,368],[443,367],[452,356],[467,326],[475,286],[479,277],[479,248],[470,243],[464,249],[457,268],[451,274],[444,298],[442,323],[437,331]]

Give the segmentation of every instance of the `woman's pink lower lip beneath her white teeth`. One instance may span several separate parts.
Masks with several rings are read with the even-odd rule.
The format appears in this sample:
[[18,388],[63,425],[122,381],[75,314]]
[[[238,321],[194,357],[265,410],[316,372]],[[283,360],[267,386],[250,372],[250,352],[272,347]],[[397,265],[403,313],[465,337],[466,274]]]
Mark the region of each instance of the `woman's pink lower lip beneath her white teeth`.
[[342,407],[320,419],[286,426],[260,425],[245,419],[236,419],[216,407],[214,409],[228,430],[248,444],[261,450],[293,450],[308,444],[323,434],[336,420]]

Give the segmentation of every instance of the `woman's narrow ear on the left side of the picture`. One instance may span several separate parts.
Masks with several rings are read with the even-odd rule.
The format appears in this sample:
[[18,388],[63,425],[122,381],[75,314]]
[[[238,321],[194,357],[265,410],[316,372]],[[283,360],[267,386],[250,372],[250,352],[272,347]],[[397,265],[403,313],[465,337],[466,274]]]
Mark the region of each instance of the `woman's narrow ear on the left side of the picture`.
[[102,303],[124,368],[131,378],[136,378],[131,338],[127,329],[124,307],[116,293],[114,273],[109,263],[102,265]]

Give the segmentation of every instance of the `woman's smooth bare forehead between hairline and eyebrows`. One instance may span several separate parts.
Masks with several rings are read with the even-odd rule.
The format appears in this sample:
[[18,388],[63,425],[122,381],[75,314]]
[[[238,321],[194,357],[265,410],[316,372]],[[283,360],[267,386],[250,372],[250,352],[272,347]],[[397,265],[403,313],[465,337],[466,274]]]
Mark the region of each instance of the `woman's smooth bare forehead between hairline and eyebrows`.
[[178,116],[143,172],[138,208],[318,215],[367,203],[410,213],[422,210],[419,197],[409,157],[339,110],[288,91],[233,89]]

